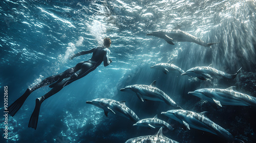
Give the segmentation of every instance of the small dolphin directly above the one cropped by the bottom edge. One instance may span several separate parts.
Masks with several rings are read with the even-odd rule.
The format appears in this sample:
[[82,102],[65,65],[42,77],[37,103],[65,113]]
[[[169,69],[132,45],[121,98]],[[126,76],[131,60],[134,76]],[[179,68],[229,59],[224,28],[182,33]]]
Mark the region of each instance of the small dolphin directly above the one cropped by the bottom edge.
[[170,131],[173,130],[173,127],[170,126],[168,123],[160,120],[157,115],[154,118],[145,118],[143,120],[138,121],[133,126],[141,126],[141,127],[150,127],[155,129],[156,127],[164,127]]

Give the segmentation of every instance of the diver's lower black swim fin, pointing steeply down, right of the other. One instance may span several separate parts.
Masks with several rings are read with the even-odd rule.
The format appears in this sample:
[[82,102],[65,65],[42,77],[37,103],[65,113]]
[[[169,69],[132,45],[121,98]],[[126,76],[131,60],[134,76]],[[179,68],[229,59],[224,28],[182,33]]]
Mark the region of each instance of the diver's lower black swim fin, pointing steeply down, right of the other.
[[28,127],[36,129],[37,122],[38,122],[39,111],[40,111],[40,107],[41,107],[41,103],[42,103],[42,99],[41,98],[37,98],[35,100],[35,109],[34,109],[32,115],[30,117],[29,126]]

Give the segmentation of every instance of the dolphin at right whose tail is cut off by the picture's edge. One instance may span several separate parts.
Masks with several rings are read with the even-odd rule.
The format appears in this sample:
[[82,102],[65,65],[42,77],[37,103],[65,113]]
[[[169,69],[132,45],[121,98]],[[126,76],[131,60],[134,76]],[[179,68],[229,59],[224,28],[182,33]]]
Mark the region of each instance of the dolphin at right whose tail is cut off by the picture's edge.
[[239,105],[239,106],[255,106],[256,98],[240,93],[236,90],[236,86],[231,86],[226,89],[219,88],[203,88],[197,89],[194,92],[188,92],[193,96],[203,100],[216,103],[217,105]]

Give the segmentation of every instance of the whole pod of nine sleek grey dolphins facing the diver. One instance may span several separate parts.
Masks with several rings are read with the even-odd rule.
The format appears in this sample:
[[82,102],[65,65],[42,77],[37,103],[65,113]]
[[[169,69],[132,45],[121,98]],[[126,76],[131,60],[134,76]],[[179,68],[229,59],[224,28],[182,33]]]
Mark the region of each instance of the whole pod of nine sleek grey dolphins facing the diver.
[[[177,42],[194,42],[202,46],[210,46],[216,43],[206,43],[201,39],[192,36],[181,30],[159,30],[147,35],[156,36],[164,39],[169,44],[174,44],[173,41]],[[214,68],[212,64],[209,66],[197,66],[190,68],[186,71],[182,70],[180,67],[170,64],[170,63],[158,63],[153,65],[151,68],[156,68],[162,70],[164,74],[175,72],[180,75],[187,75],[189,77],[198,78],[200,80],[207,79],[234,79],[241,70],[237,71],[236,74],[227,74],[221,70]],[[234,138],[227,130],[219,126],[218,124],[212,122],[208,117],[204,115],[205,112],[196,113],[193,111],[188,111],[182,109],[179,105],[175,103],[166,93],[156,87],[156,81],[150,85],[134,84],[128,85],[121,88],[120,91],[132,90],[137,94],[139,100],[144,102],[145,100],[160,101],[164,102],[168,106],[174,108],[173,110],[168,110],[166,112],[161,112],[161,114],[178,121],[183,124],[188,130],[190,128],[206,131],[212,134],[216,134],[227,141],[238,141],[243,142],[240,139]],[[254,106],[256,107],[256,98],[248,96],[247,94],[240,93],[236,90],[235,86],[231,86],[226,89],[219,88],[203,88],[197,89],[193,92],[188,92],[189,95],[199,97],[208,102],[216,103],[218,106],[223,105],[238,105],[238,106]],[[86,103],[92,104],[104,110],[104,114],[108,116],[108,113],[117,114],[130,119],[135,124],[133,126],[148,127],[151,129],[159,128],[160,130],[156,135],[145,135],[127,140],[125,143],[129,142],[160,142],[160,143],[170,143],[177,142],[170,138],[167,138],[162,133],[162,128],[166,128],[169,131],[173,130],[173,127],[160,120],[157,115],[153,118],[145,118],[140,120],[140,118],[125,105],[124,101],[115,101],[112,99],[98,98],[92,101],[87,101]]]

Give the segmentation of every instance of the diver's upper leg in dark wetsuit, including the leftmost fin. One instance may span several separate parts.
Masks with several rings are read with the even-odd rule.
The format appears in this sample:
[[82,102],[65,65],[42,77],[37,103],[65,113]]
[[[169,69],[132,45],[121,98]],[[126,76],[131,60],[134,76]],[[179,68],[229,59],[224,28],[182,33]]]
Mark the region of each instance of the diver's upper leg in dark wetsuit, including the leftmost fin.
[[67,70],[65,70],[63,73],[55,75],[55,76],[51,76],[48,77],[44,80],[42,80],[39,84],[33,86],[32,88],[27,88],[26,92],[20,97],[18,98],[11,106],[8,107],[8,113],[11,116],[14,116],[16,114],[16,112],[22,107],[22,105],[24,104],[24,102],[26,101],[26,99],[28,98],[28,96],[36,89],[40,88],[40,87],[44,87],[46,85],[49,85],[55,81],[62,81],[64,78],[67,78],[68,76],[70,76],[71,74],[74,73],[74,68],[69,68]]

